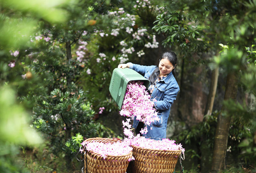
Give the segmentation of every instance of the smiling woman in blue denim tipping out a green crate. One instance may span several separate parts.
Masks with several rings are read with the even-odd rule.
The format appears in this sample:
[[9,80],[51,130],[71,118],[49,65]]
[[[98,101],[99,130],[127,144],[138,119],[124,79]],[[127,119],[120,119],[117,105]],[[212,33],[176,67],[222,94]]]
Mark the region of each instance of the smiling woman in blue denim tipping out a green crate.
[[[158,67],[141,66],[130,62],[118,65],[118,68],[131,68],[150,81],[150,86],[148,88],[151,94],[150,99],[152,101],[154,98],[156,99],[154,104],[160,120],[152,122],[150,126],[147,127],[148,132],[143,135],[146,138],[155,140],[166,138],[166,127],[170,109],[180,90],[179,85],[174,78],[174,69],[176,68],[176,65],[177,56],[173,51],[166,51],[162,54],[159,59]],[[132,127],[135,128],[135,132],[138,134],[141,128],[144,127],[144,124],[134,117]]]

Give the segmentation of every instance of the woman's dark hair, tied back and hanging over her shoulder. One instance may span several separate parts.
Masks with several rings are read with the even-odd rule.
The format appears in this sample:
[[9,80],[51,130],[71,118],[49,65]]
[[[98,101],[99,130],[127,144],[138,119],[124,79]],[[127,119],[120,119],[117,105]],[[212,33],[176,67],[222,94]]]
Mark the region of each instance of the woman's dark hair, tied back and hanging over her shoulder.
[[[173,51],[166,51],[162,54],[161,58],[159,59],[159,62],[161,59],[168,59],[172,65],[175,67],[177,65],[177,56]],[[172,75],[175,77],[175,68],[172,70]],[[156,80],[156,77],[160,74],[159,68],[157,67],[153,73],[149,76],[150,83],[154,83]]]

